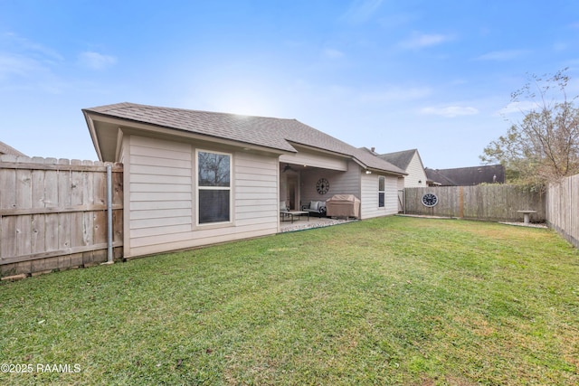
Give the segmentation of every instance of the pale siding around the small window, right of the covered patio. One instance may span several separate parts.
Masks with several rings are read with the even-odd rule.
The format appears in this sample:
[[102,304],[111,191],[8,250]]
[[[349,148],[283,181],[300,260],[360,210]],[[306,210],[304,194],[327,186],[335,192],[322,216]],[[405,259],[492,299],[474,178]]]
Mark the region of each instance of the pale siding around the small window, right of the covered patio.
[[386,216],[398,212],[398,178],[386,175],[384,178],[384,207],[378,207],[378,174],[360,174],[362,197],[360,217],[369,219],[372,217]]

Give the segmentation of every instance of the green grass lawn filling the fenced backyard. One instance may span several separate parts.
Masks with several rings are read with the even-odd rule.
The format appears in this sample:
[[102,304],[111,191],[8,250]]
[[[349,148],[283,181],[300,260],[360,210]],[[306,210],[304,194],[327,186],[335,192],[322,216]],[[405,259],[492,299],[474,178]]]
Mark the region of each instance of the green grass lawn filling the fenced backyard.
[[579,252],[389,217],[3,282],[0,363],[21,371],[0,384],[574,385]]

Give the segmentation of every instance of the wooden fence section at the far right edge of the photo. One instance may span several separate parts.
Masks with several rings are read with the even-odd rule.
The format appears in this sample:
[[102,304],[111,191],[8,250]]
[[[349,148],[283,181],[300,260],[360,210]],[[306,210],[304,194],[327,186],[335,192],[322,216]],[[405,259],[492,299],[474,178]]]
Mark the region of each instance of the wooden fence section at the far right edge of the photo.
[[546,221],[579,248],[579,174],[549,185],[546,193]]

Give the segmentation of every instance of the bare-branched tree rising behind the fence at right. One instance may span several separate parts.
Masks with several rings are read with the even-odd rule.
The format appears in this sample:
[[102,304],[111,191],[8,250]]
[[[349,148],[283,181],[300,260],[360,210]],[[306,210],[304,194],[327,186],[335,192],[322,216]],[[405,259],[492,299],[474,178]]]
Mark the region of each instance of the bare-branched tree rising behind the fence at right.
[[567,98],[566,70],[529,75],[525,86],[511,94],[523,119],[511,122],[507,134],[480,155],[483,163],[504,165],[511,183],[543,188],[579,173],[579,109],[574,107],[577,97]]

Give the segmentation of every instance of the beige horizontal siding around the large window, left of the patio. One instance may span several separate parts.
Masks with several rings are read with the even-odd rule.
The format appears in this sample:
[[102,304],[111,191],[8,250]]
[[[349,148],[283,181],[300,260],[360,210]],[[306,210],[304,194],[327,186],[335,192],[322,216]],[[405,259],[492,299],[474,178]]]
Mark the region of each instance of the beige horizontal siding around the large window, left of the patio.
[[[199,225],[195,220],[195,143],[140,136],[127,136],[123,142],[125,167],[129,171],[125,184],[128,186],[126,257],[278,231],[277,157],[231,150],[231,221]],[[212,151],[206,145],[200,149]]]

